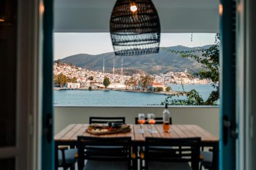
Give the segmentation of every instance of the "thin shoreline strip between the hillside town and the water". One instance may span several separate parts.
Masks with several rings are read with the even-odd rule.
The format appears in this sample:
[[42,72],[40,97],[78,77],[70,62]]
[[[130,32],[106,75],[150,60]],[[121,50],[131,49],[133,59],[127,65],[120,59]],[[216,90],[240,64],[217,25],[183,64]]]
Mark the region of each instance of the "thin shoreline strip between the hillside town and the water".
[[186,92],[181,92],[181,91],[170,91],[170,92],[165,92],[165,91],[161,91],[161,92],[154,92],[154,91],[142,91],[142,90],[129,90],[129,89],[114,89],[114,88],[110,88],[110,89],[86,89],[86,88],[62,88],[62,87],[54,87],[53,90],[88,90],[88,91],[94,91],[94,90],[111,90],[111,91],[124,91],[124,92],[136,92],[136,93],[147,93],[147,94],[162,94],[162,95],[182,95],[182,94],[186,94]]

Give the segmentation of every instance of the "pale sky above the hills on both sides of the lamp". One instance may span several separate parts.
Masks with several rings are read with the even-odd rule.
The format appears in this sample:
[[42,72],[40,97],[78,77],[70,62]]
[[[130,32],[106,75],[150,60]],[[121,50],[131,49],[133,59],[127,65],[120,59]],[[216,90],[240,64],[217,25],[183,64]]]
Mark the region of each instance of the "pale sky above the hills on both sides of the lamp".
[[[214,44],[214,33],[161,33],[160,46],[188,47]],[[54,33],[54,60],[76,54],[113,52],[110,33]]]

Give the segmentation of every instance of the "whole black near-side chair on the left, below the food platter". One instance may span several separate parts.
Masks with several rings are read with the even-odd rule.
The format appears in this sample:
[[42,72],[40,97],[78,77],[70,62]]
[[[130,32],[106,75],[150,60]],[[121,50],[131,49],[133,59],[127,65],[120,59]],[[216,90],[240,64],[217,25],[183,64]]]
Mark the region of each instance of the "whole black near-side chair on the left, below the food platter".
[[78,170],[131,169],[131,137],[78,136],[77,145]]

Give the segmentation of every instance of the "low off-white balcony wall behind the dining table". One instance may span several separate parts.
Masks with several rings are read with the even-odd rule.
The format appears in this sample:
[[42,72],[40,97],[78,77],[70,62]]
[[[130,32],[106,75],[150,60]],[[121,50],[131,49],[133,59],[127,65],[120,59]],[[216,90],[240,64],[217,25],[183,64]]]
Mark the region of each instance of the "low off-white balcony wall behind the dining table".
[[[162,116],[164,107],[54,107],[54,132],[69,124],[89,124],[90,116],[124,116],[126,123],[135,124],[138,113]],[[177,106],[169,108],[173,124],[199,125],[219,137],[219,107]]]

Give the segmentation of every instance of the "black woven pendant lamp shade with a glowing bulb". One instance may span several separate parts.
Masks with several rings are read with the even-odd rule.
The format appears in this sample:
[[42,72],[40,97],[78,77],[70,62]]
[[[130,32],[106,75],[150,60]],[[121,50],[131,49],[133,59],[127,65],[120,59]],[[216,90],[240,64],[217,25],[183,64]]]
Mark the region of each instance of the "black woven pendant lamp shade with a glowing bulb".
[[117,0],[110,20],[116,55],[133,56],[159,52],[160,21],[151,0]]

